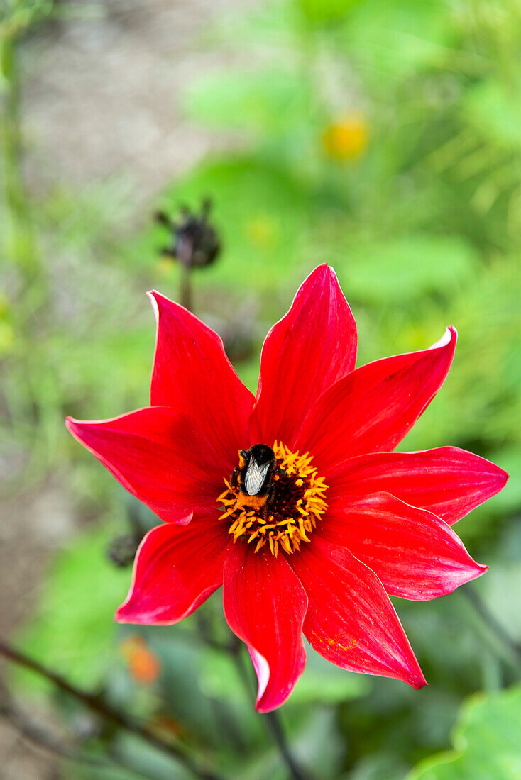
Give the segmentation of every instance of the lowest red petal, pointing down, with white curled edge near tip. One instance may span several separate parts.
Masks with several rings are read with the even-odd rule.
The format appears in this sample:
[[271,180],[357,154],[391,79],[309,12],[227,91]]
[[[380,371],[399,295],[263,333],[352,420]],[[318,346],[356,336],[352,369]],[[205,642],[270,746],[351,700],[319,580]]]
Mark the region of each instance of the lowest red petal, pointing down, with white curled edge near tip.
[[223,606],[230,629],[248,645],[259,679],[256,709],[287,699],[305,667],[302,622],[308,599],[283,555],[240,541],[224,563]]

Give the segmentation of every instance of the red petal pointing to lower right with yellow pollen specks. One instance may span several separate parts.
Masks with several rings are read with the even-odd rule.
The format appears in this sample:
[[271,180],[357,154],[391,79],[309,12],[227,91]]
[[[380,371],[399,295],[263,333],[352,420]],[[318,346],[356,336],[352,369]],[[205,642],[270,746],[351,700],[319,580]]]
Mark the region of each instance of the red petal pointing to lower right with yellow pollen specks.
[[316,534],[293,566],[309,598],[304,633],[323,658],[351,672],[426,685],[382,583],[354,555]]

